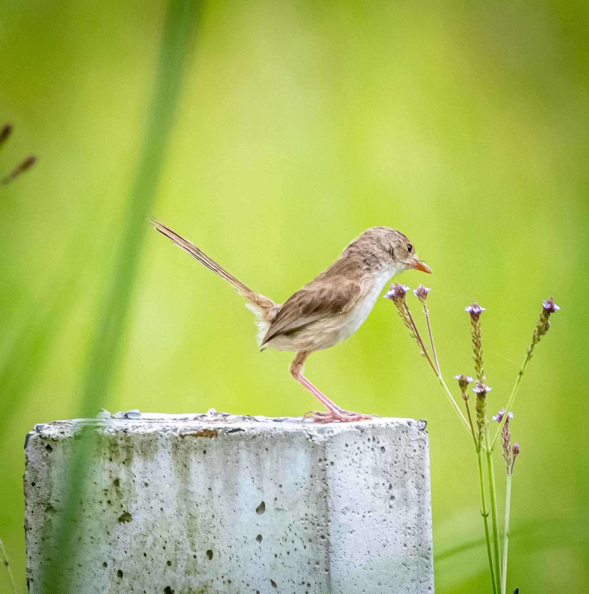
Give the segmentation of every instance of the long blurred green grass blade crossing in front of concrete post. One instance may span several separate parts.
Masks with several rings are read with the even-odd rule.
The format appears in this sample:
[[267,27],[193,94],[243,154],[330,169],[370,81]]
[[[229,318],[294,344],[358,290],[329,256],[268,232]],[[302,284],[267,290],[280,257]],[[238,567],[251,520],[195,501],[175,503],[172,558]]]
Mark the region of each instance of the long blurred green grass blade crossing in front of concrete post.
[[[90,351],[79,413],[93,417],[112,384],[122,350],[132,289],[141,256],[145,218],[151,214],[165,161],[165,150],[179,103],[186,58],[198,23],[200,3],[196,0],[170,0],[165,17],[155,89],[145,131],[141,156],[130,190],[123,236],[120,241],[112,281],[98,315],[97,329]],[[53,529],[50,561],[42,576],[42,591],[62,594],[73,592],[64,581],[68,567],[75,564],[74,531],[78,533],[77,506],[85,488],[85,476],[94,448],[93,427],[82,439],[71,459],[69,484],[57,525]]]

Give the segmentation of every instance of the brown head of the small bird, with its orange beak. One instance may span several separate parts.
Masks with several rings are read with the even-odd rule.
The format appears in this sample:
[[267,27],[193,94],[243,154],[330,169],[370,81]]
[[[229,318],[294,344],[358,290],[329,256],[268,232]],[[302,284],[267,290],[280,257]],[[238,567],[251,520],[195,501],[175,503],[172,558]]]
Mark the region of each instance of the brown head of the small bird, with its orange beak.
[[342,257],[361,257],[365,267],[374,271],[388,267],[399,273],[421,270],[431,274],[431,268],[419,260],[412,241],[403,233],[389,227],[365,230],[343,252]]

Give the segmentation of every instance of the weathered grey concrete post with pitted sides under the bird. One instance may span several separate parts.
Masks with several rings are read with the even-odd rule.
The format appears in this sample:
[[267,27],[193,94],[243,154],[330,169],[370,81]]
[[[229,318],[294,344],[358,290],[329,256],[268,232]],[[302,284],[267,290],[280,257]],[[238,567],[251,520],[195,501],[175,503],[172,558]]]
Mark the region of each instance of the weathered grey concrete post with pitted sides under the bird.
[[[105,413],[63,567],[71,592],[434,590],[424,421]],[[27,577],[41,589],[79,421],[27,435]]]

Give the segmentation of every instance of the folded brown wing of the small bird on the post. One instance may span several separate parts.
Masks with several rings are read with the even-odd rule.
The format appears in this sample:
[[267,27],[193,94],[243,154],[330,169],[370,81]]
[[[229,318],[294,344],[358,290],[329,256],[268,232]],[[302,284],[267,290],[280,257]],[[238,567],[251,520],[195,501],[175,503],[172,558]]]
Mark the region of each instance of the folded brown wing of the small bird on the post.
[[343,314],[354,307],[360,296],[361,285],[357,280],[340,277],[330,279],[329,283],[311,281],[284,302],[260,346],[278,334],[288,334],[324,317]]

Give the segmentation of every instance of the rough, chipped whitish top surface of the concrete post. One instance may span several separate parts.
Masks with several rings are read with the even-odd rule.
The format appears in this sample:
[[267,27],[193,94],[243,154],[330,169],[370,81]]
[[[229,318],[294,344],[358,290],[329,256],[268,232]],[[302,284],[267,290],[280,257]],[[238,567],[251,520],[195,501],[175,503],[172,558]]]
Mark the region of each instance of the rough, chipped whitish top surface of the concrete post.
[[125,431],[138,434],[146,433],[171,433],[171,434],[190,434],[193,432],[204,431],[203,435],[195,437],[215,437],[207,435],[206,431],[223,433],[235,433],[239,431],[247,432],[304,432],[307,435],[335,435],[348,431],[364,431],[371,427],[409,426],[419,431],[424,431],[426,421],[421,419],[383,417],[374,418],[370,421],[356,421],[351,423],[316,423],[313,419],[304,417],[268,417],[268,416],[250,416],[250,415],[232,415],[227,412],[217,412],[211,409],[206,413],[155,413],[139,412],[139,410],[129,410],[127,412],[117,412],[111,415],[107,410],[103,410],[95,419],[68,419],[66,421],[52,421],[48,423],[38,423],[34,426],[31,434],[40,434],[47,437],[67,437],[74,434],[82,426],[95,425],[96,428],[104,432]]

